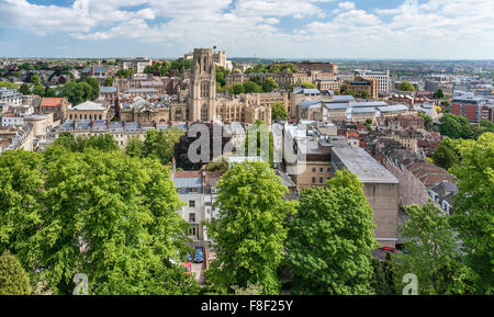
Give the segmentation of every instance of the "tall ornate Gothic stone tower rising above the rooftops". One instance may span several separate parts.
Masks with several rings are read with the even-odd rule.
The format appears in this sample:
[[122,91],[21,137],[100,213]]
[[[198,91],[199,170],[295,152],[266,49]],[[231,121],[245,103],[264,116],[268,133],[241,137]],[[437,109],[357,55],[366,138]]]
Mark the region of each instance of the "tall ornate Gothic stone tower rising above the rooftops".
[[189,91],[189,121],[211,122],[216,113],[216,68],[211,48],[194,48]]

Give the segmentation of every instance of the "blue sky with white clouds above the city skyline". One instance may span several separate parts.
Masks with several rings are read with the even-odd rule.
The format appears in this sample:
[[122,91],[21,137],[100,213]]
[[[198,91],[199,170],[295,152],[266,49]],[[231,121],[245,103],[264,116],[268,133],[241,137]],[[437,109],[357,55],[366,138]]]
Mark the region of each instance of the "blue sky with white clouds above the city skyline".
[[493,0],[0,0],[0,56],[494,59]]

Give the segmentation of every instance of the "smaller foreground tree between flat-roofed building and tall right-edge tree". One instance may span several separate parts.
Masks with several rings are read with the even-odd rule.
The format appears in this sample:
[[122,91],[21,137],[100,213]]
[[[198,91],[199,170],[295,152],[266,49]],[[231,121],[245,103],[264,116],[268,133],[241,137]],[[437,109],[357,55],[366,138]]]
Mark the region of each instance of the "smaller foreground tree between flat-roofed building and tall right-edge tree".
[[407,253],[396,256],[396,288],[406,273],[417,275],[420,295],[459,295],[473,292],[474,272],[461,262],[449,216],[434,204],[406,208],[409,220],[400,228]]

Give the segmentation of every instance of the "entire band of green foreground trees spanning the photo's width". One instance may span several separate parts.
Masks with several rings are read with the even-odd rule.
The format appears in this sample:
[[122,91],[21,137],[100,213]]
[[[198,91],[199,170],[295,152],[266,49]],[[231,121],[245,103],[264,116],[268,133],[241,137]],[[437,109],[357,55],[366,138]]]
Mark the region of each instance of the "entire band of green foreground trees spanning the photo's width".
[[[156,133],[144,147],[157,143]],[[197,294],[169,261],[188,250],[169,169],[149,158],[153,150],[125,155],[111,136],[70,136],[44,154],[0,156],[0,253],[15,254],[42,292],[69,294],[81,272],[91,294]],[[207,224],[216,259],[202,292],[401,294],[403,275],[414,273],[419,294],[492,294],[494,134],[454,148],[454,215],[409,206],[401,229],[406,252],[384,265],[371,256],[372,210],[355,174],[336,172],[299,203],[284,200],[288,189],[268,163],[234,165],[217,184],[221,214]]]

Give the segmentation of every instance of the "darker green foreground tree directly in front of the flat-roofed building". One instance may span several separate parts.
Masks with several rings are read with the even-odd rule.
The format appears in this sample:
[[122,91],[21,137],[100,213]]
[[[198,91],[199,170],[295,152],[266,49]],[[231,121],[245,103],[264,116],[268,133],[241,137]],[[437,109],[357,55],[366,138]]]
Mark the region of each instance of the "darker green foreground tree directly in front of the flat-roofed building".
[[301,193],[287,241],[293,293],[373,294],[371,252],[378,244],[362,186],[344,170],[326,188]]

